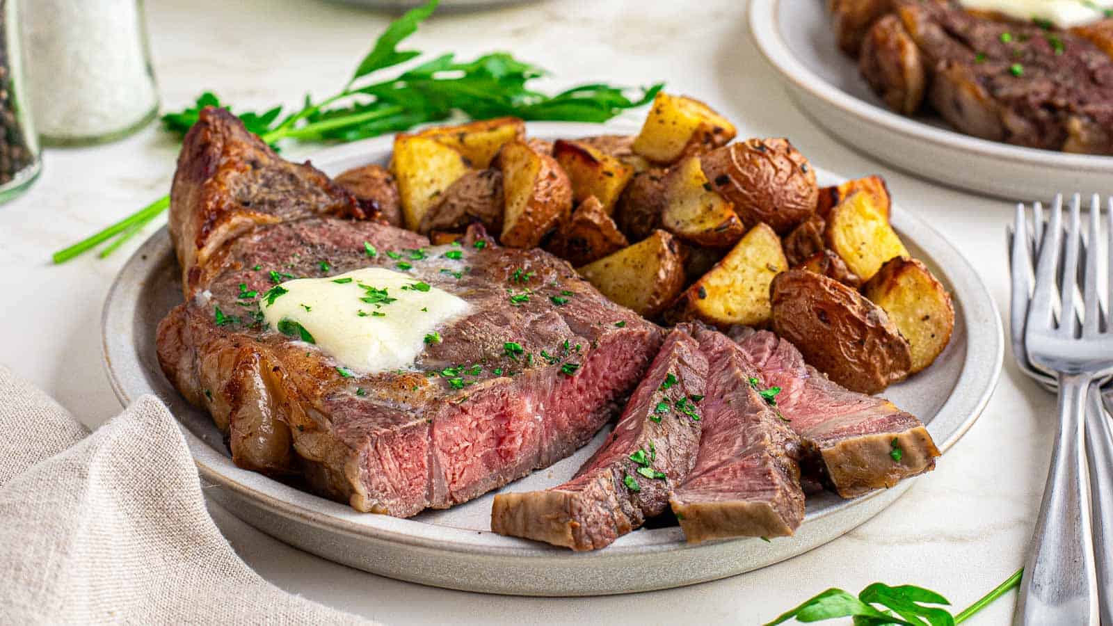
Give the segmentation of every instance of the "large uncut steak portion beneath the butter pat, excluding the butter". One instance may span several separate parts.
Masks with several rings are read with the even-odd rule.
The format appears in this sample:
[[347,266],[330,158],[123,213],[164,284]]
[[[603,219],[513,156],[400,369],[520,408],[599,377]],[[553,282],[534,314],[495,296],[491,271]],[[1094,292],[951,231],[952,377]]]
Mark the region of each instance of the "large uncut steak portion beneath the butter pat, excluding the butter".
[[[430,246],[415,233],[335,217],[357,207],[346,194],[312,166],[282,162],[221,109],[205,109],[185,139],[170,221],[187,301],[160,323],[158,358],[227,433],[239,467],[301,475],[362,511],[446,508],[587,443],[656,354],[661,330],[568,263],[500,248],[482,229],[462,246]],[[471,305],[412,368],[353,373],[262,323],[272,272],[397,270],[387,252],[406,255],[415,281]],[[508,288],[532,291],[512,302]]]

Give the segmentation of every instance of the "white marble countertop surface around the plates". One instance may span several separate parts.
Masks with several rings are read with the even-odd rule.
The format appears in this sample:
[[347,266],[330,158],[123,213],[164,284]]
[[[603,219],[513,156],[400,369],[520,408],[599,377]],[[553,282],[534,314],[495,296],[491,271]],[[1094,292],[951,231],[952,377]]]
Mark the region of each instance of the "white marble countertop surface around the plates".
[[[335,89],[387,19],[321,0],[148,0],[147,12],[162,101],[170,108],[205,89],[242,107],[293,104],[307,89]],[[437,16],[412,45],[464,57],[512,50],[552,70],[554,86],[664,80],[671,91],[719,109],[740,136],[789,136],[824,168],[847,176],[880,173],[898,203],[928,216],[964,251],[1001,310],[1008,310],[1009,205],[898,173],[827,137],[792,106],[761,60],[743,3],[692,2],[681,10],[671,1],[552,0]],[[87,255],[52,266],[49,255],[166,193],[176,153],[174,139],[155,126],[108,146],[51,149],[35,187],[0,206],[0,361],[90,426],[119,411],[100,360],[100,309],[140,239],[106,261]],[[213,513],[267,579],[386,624],[752,624],[827,587],[857,593],[874,580],[926,586],[962,608],[1021,566],[1048,462],[1054,398],[1025,379],[1009,354],[1005,359],[981,420],[888,510],[798,558],[716,583],[602,598],[434,589],[322,560],[223,510]],[[1007,623],[1014,600],[1011,595],[997,601],[971,624]]]

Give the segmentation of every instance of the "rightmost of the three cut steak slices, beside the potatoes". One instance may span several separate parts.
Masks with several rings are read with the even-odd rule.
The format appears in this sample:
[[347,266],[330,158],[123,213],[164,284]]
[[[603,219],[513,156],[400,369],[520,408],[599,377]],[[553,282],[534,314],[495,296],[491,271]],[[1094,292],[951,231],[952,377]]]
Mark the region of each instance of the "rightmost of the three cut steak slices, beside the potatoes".
[[768,331],[738,329],[731,335],[760,372],[761,385],[780,388],[776,407],[804,441],[806,468],[820,472],[844,498],[935,468],[939,450],[910,413],[831,382]]

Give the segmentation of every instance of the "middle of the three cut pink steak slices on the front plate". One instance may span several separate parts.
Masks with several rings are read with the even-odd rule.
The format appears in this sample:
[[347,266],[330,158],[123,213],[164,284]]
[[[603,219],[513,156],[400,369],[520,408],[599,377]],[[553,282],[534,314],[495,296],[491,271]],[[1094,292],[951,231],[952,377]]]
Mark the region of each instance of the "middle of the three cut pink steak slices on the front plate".
[[696,466],[672,492],[689,542],[791,535],[804,519],[799,440],[750,383],[756,375],[726,335],[696,331],[708,361]]

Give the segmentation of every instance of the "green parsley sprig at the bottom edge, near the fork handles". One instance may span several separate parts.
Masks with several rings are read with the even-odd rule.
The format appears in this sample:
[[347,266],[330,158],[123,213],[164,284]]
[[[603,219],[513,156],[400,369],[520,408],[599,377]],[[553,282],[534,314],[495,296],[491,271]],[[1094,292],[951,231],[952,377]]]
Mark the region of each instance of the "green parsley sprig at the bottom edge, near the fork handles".
[[[942,595],[916,587],[890,587],[883,583],[869,585],[857,597],[843,589],[827,589],[796,608],[785,612],[765,626],[776,626],[795,618],[797,622],[821,622],[853,617],[855,626],[956,626],[969,619],[995,599],[1021,584],[1023,569],[983,596],[958,615],[951,615],[942,606],[951,603]],[[876,606],[875,606],[876,605]],[[935,605],[935,606],[932,606]],[[942,605],[942,606],[940,606]],[[883,608],[877,608],[878,606]]]

